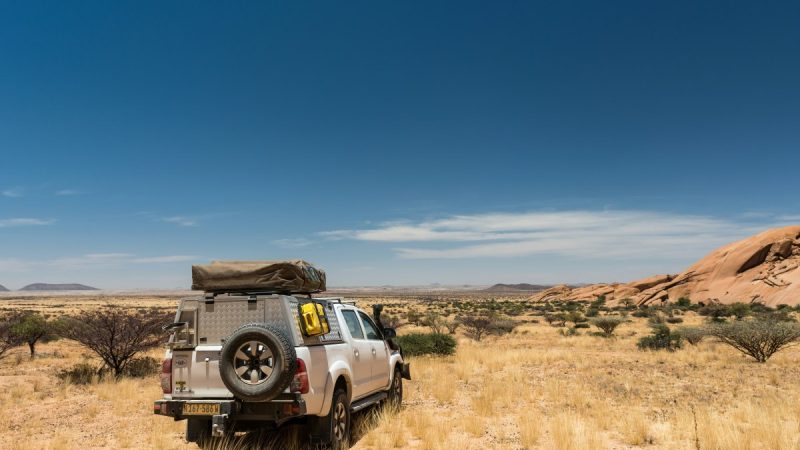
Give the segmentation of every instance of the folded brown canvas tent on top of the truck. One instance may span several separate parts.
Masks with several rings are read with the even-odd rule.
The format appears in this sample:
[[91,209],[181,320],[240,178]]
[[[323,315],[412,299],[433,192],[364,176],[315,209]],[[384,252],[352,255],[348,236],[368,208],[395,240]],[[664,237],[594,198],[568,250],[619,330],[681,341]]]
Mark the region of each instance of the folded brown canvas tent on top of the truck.
[[310,294],[325,290],[325,272],[303,260],[212,261],[192,266],[192,289]]

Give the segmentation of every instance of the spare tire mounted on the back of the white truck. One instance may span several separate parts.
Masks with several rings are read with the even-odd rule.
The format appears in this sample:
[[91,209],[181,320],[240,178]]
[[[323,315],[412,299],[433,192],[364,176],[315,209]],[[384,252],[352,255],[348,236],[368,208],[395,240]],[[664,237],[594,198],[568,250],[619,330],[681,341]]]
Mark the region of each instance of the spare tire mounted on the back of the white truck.
[[296,370],[294,346],[271,325],[243,325],[222,346],[219,374],[225,387],[242,400],[272,400],[289,386]]

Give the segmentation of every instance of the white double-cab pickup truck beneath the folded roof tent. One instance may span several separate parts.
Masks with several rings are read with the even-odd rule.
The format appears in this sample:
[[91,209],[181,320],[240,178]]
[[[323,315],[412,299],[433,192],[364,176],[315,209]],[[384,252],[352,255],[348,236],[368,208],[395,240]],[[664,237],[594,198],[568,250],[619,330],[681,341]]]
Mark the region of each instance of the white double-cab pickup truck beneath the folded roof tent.
[[183,299],[154,413],[187,419],[186,440],[307,426],[312,443],[347,446],[350,416],[399,406],[410,379],[395,332],[341,298],[224,294]]

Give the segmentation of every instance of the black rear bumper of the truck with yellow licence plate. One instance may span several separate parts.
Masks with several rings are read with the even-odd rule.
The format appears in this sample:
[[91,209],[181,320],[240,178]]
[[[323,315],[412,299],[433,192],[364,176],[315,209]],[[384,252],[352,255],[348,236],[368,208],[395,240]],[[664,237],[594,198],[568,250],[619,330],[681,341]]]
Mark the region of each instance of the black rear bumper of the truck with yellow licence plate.
[[[184,414],[184,405],[219,405],[219,414]],[[269,402],[241,402],[239,400],[215,399],[162,399],[153,403],[153,413],[174,417],[175,420],[187,418],[217,419],[236,421],[270,421],[275,423],[303,416],[306,414],[306,402],[300,394],[284,394]],[[219,419],[217,419],[219,420]]]

